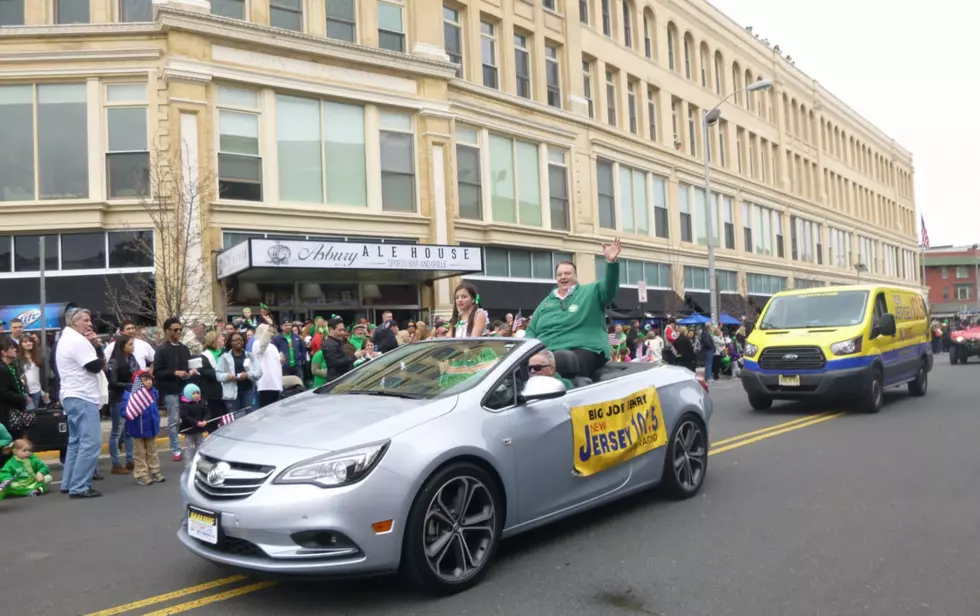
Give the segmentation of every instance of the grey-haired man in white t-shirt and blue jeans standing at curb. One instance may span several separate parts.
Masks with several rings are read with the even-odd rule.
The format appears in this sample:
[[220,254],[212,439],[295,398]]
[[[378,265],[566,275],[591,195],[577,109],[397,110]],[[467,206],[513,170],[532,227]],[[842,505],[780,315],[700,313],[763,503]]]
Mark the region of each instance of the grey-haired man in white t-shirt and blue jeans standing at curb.
[[102,340],[92,330],[88,310],[69,311],[68,326],[55,349],[61,381],[59,396],[68,419],[68,453],[65,456],[61,492],[71,498],[102,496],[91,486],[102,451],[99,374],[105,369]]

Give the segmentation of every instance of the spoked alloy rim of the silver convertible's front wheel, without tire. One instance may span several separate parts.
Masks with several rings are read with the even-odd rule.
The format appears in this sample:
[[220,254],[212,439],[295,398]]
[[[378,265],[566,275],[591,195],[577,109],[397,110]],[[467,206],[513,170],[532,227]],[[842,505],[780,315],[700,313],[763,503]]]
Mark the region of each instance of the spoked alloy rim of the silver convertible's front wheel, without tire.
[[439,490],[425,513],[425,559],[441,579],[459,583],[476,575],[496,541],[497,511],[479,480],[458,476]]

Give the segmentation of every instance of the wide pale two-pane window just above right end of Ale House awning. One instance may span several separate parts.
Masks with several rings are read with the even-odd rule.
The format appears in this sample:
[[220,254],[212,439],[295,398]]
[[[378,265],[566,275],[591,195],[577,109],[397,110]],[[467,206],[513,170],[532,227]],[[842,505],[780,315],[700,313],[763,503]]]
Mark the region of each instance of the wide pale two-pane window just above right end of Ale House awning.
[[490,210],[494,222],[541,226],[538,146],[490,135]]

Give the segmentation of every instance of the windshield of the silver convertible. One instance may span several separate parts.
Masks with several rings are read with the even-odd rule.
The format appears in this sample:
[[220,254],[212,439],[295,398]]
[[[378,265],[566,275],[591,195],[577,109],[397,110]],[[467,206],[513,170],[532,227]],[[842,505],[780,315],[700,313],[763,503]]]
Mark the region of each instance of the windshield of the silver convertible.
[[316,393],[416,399],[455,395],[475,387],[520,344],[512,338],[415,342],[371,360]]

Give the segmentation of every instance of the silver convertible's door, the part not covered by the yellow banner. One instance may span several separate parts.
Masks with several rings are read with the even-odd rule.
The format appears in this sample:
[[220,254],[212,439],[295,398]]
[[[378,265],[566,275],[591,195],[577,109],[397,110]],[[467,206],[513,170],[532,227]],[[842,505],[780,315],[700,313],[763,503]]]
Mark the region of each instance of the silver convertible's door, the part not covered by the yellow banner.
[[604,388],[573,390],[561,398],[523,404],[518,392],[526,375],[525,362],[503,379],[487,399],[488,405],[508,405],[501,412],[509,415],[513,430],[521,524],[616,491],[629,480],[631,466],[622,464],[588,477],[575,474],[569,409],[595,402],[597,395],[601,396],[597,390]]

